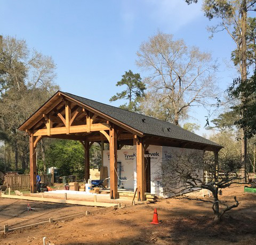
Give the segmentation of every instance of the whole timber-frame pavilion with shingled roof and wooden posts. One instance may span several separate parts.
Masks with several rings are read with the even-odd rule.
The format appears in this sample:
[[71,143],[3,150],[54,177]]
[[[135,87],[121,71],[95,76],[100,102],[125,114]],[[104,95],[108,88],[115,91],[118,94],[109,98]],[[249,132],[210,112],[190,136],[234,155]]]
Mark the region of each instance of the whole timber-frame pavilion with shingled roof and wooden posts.
[[134,146],[137,149],[139,201],[146,199],[144,156],[149,145],[210,150],[214,151],[217,160],[218,151],[222,148],[172,123],[61,91],[57,91],[18,129],[29,134],[31,193],[36,192],[35,149],[44,137],[78,140],[82,143],[86,181],[90,178],[89,150],[92,143],[98,142],[102,149],[104,143],[109,143],[111,199],[118,198],[117,150],[124,145]]

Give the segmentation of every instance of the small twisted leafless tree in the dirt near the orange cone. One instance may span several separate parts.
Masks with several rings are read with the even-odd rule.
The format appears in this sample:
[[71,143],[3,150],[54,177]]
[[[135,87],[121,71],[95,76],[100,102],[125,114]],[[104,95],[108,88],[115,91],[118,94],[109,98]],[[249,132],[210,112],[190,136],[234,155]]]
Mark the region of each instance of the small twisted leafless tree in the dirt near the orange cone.
[[[181,194],[199,189],[212,192],[213,198],[190,198],[188,199],[210,202],[214,212],[214,221],[221,221],[221,217],[228,210],[238,207],[239,202],[234,197],[235,203],[228,205],[226,201],[219,200],[221,189],[230,187],[231,184],[240,183],[242,178],[238,175],[241,168],[241,160],[222,156],[219,164],[212,154],[198,153],[176,154],[170,160],[162,163],[162,185],[164,194]],[[204,172],[207,171],[207,181]],[[224,208],[221,208],[221,206]]]

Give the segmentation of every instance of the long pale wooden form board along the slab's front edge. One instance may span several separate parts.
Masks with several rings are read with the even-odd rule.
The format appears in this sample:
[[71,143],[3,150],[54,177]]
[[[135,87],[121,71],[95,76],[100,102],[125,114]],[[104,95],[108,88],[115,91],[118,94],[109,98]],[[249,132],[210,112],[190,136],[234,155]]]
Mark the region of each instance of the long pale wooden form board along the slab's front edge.
[[82,206],[97,206],[97,207],[117,207],[116,204],[108,204],[106,202],[92,202],[92,201],[76,201],[76,200],[65,200],[65,199],[54,199],[54,198],[42,198],[42,197],[29,197],[29,196],[13,196],[2,194],[3,198],[13,198],[22,199],[30,201],[45,201],[45,202],[55,202],[57,204],[74,204]]

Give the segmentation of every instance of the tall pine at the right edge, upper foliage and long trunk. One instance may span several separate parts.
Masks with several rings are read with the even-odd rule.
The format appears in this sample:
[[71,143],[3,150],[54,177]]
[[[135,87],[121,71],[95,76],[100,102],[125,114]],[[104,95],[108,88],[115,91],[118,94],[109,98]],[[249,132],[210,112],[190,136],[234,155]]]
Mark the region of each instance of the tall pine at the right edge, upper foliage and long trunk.
[[[211,27],[210,31],[217,33],[226,30],[236,44],[236,59],[241,81],[247,80],[247,12],[254,11],[255,0],[204,0],[203,10],[209,20],[219,19],[217,26]],[[241,98],[244,103],[245,97]],[[244,162],[244,176],[246,178],[247,139],[243,132],[242,158]]]

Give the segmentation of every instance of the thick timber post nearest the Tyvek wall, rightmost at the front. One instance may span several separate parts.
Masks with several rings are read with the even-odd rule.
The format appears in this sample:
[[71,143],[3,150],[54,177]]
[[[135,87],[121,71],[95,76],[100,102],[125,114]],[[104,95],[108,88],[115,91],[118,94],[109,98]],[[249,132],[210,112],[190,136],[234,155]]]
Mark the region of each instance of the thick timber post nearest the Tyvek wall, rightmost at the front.
[[140,137],[137,137],[136,145],[138,201],[145,201],[145,159],[144,147]]

